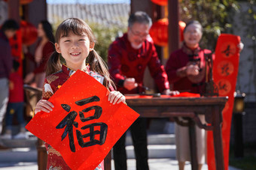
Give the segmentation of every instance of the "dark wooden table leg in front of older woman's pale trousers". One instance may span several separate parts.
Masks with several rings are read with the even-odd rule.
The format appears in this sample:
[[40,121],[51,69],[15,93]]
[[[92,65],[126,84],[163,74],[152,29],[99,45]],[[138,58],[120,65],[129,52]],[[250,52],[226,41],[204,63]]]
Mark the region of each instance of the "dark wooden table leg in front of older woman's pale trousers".
[[197,161],[197,134],[196,127],[193,120],[189,120],[189,144],[190,144],[190,157],[191,157],[191,168],[192,170],[198,170]]

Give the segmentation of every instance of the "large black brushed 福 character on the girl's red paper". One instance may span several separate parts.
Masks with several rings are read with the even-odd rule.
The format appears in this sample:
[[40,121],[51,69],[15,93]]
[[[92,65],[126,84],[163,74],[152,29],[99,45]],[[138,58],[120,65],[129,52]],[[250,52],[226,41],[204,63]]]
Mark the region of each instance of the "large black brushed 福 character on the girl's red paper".
[[[78,106],[84,106],[87,103],[98,102],[99,100],[99,97],[93,96],[83,100],[78,100],[75,102],[75,104]],[[71,110],[71,106],[67,104],[61,104],[61,106],[66,112],[69,112]],[[84,115],[84,113],[87,113],[91,110],[94,110],[93,116],[87,117],[86,115]],[[102,115],[102,107],[90,106],[78,112],[81,122],[90,121],[93,119],[98,119]],[[78,122],[75,121],[78,112],[69,112],[69,114],[66,115],[66,117],[63,118],[62,121],[56,126],[56,129],[63,129],[65,127],[64,133],[62,134],[62,140],[65,139],[66,136],[69,134],[69,147],[72,152],[75,152],[73,127],[78,128]],[[81,148],[90,147],[93,145],[103,145],[107,136],[108,125],[102,122],[87,124],[84,127],[81,127],[81,130],[89,130],[89,133],[86,133],[84,135],[81,133],[80,130],[76,130],[78,144],[81,146]]]

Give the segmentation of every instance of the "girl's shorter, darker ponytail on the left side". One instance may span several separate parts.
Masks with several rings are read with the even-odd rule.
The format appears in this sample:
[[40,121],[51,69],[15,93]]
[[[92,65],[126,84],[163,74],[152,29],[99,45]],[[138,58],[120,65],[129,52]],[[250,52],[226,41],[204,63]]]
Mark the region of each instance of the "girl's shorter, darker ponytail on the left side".
[[46,76],[49,76],[52,73],[56,73],[61,69],[61,64],[59,61],[59,53],[58,52],[53,52],[52,55],[50,55],[50,58],[47,62],[47,67],[46,67]]

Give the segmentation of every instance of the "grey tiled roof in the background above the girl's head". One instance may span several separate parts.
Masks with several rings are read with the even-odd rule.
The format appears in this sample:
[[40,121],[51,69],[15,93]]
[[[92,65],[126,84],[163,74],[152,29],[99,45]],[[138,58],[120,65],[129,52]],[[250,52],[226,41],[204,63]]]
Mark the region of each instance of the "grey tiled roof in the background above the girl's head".
[[124,27],[130,14],[130,4],[47,4],[50,23],[78,17],[87,22]]

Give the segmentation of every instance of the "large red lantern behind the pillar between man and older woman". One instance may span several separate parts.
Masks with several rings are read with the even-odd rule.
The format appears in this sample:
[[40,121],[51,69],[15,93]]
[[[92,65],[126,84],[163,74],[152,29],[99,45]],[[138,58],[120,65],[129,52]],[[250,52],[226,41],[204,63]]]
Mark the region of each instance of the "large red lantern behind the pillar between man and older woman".
[[[151,34],[152,39],[154,40],[154,43],[158,46],[167,46],[168,45],[168,25],[169,21],[167,18],[159,19],[157,22],[154,22],[151,26],[151,29],[149,31],[149,34]],[[186,24],[182,21],[178,22],[178,26],[180,29],[180,40],[184,40],[183,37],[183,30],[186,26]]]

